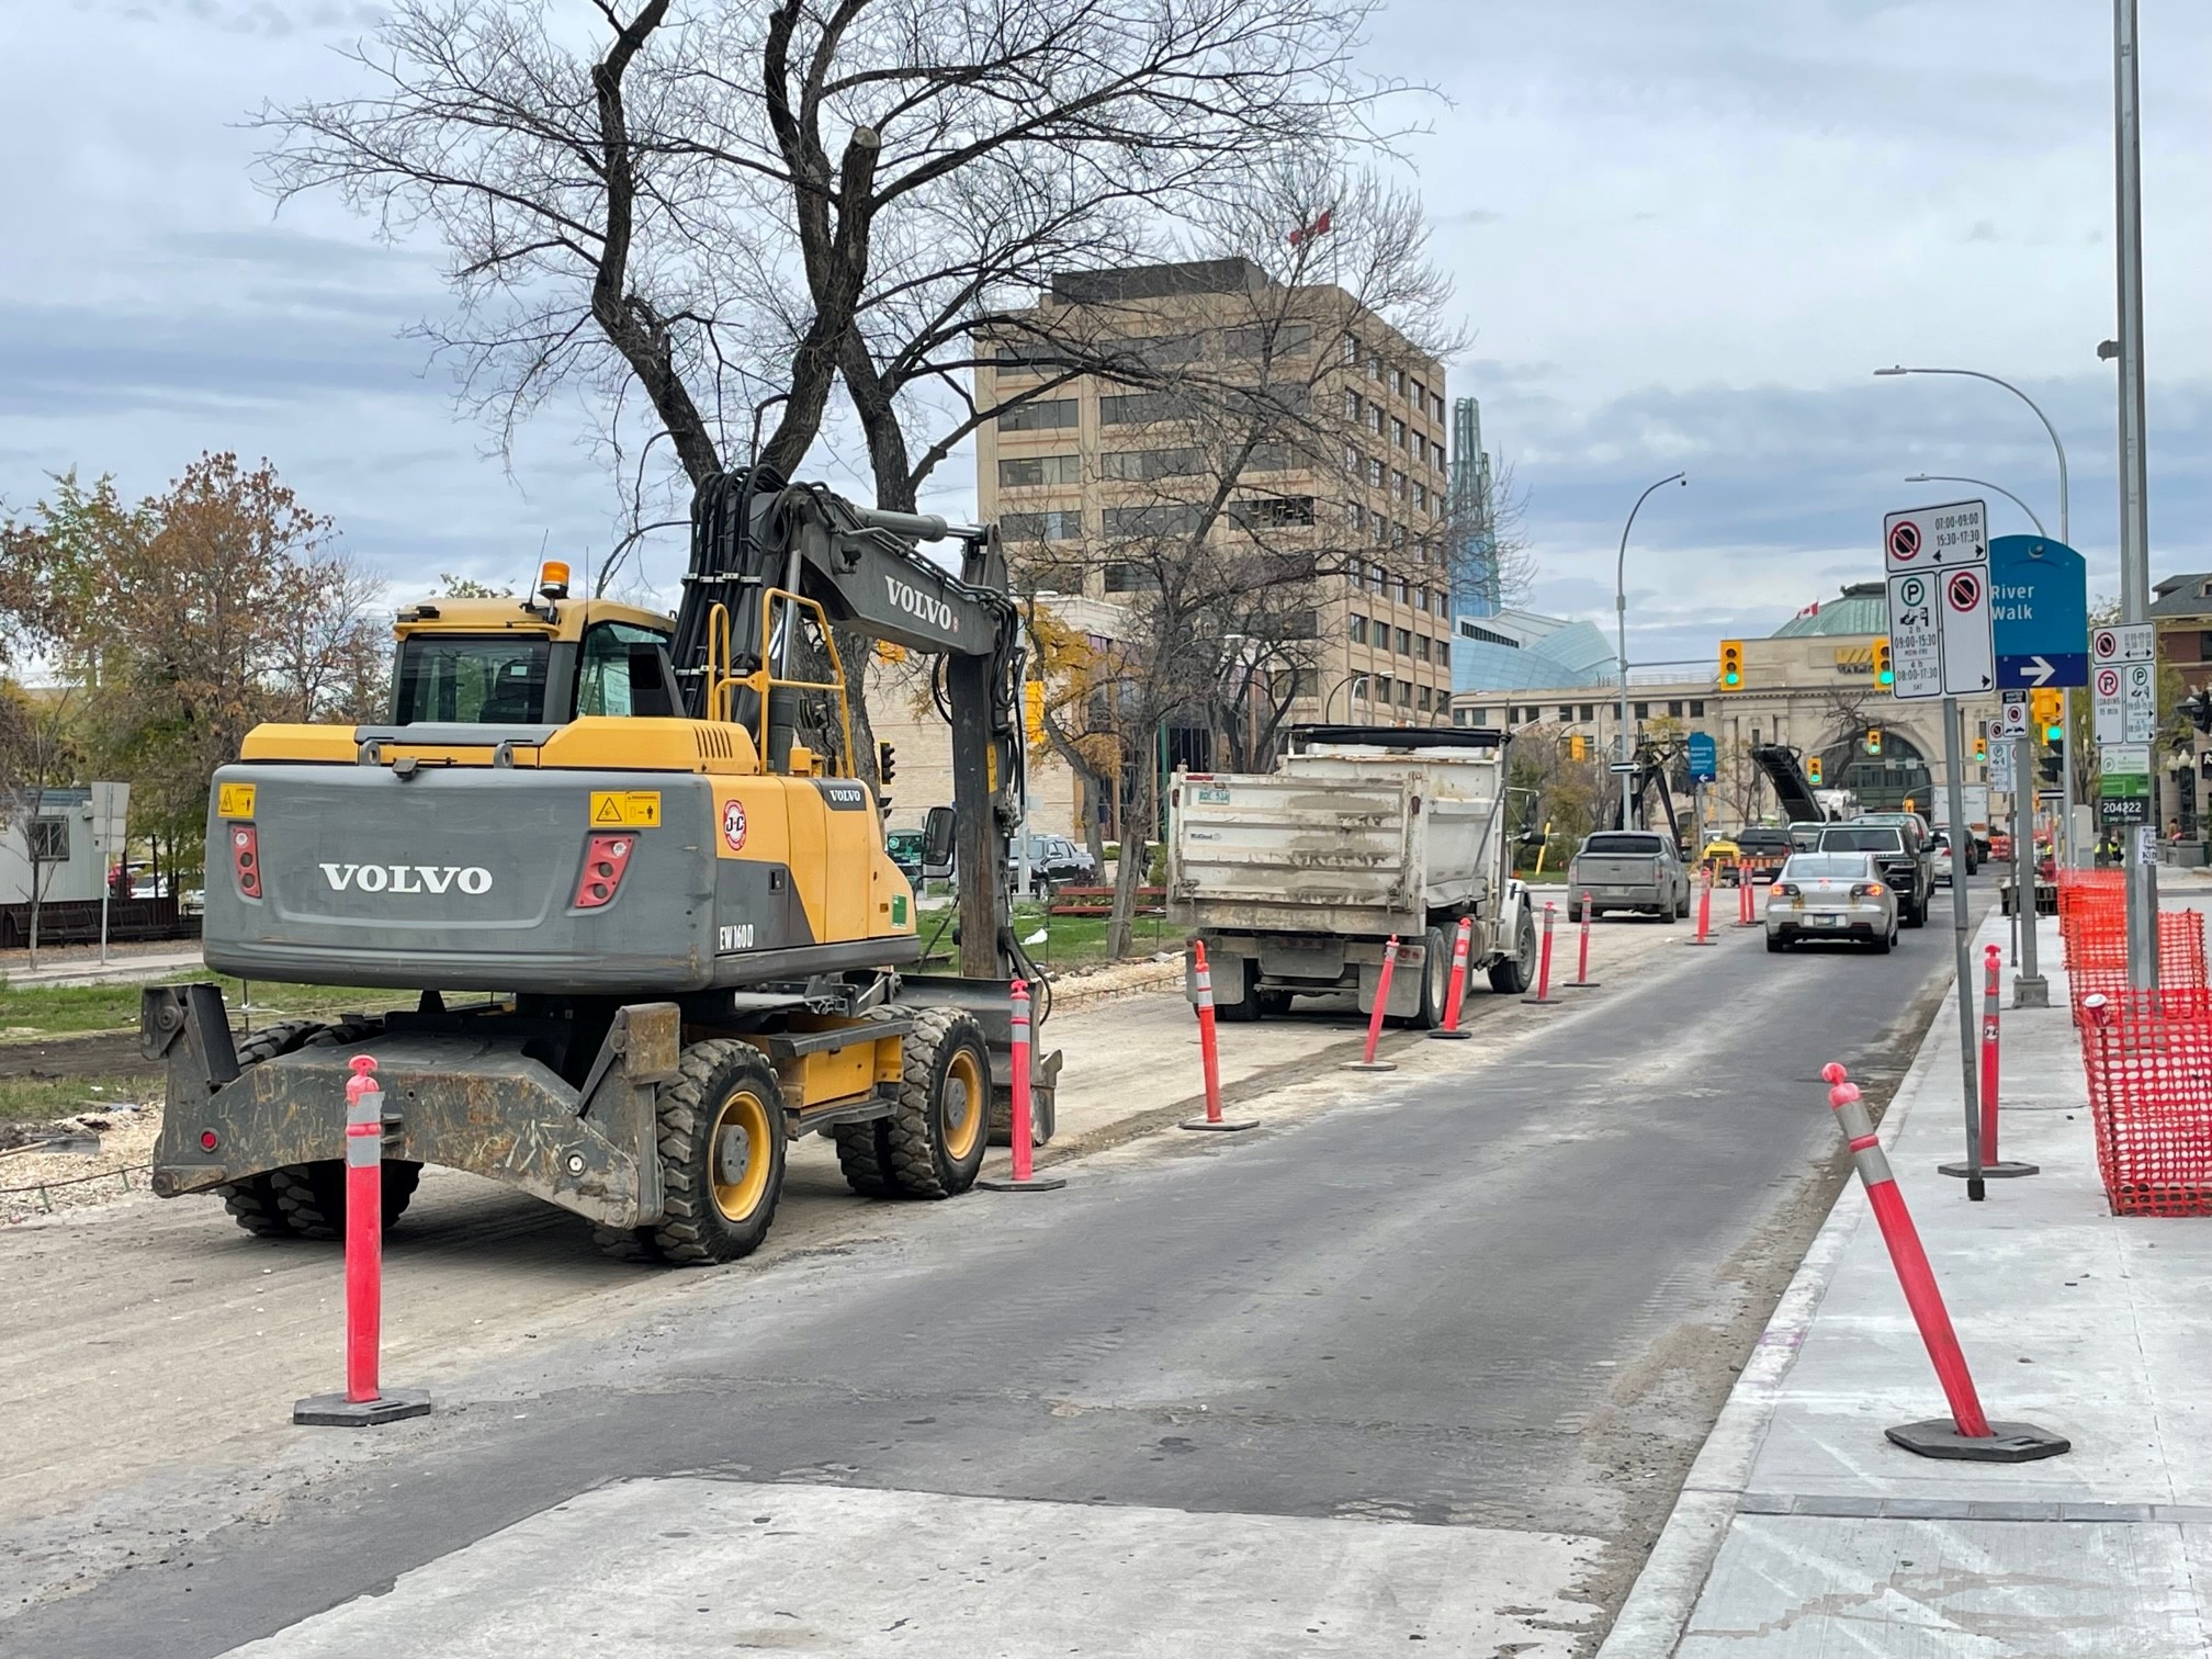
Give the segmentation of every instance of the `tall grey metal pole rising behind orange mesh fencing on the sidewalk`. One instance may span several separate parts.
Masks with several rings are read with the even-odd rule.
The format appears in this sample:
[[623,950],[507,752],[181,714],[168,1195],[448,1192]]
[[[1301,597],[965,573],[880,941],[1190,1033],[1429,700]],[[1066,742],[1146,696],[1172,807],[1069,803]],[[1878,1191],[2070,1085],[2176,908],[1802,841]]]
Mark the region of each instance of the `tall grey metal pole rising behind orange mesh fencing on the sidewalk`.
[[[2119,243],[2119,619],[2150,619],[2150,520],[2143,467],[2143,153],[2135,0],[2112,0],[2115,208]],[[2159,865],[2152,821],[2126,841],[2128,984],[2159,987]],[[1964,984],[1964,980],[1960,980]]]

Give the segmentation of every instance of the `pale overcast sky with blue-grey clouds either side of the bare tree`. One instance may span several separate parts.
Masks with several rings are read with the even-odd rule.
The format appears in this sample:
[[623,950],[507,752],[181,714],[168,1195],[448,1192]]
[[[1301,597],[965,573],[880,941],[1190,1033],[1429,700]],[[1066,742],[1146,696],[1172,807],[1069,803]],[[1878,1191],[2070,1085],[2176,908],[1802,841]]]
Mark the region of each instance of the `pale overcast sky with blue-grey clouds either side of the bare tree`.
[[[0,500],[64,467],[148,493],[201,449],[268,456],[394,591],[520,582],[608,542],[575,405],[502,462],[407,325],[438,250],[334,204],[279,219],[243,117],[358,86],[354,0],[0,7]],[[1705,657],[1878,575],[1885,509],[2017,491],[2117,591],[2110,9],[2088,0],[1396,0],[1376,73],[1449,97],[1409,142],[1475,347],[1451,392],[1526,493],[1537,608],[1610,630],[1621,518],[1630,655]],[[2143,4],[2152,571],[2212,568],[2212,13]],[[841,478],[834,458],[823,471]],[[940,511],[973,500],[949,469]],[[2028,529],[1991,498],[1997,531]],[[672,593],[681,549],[648,573]]]

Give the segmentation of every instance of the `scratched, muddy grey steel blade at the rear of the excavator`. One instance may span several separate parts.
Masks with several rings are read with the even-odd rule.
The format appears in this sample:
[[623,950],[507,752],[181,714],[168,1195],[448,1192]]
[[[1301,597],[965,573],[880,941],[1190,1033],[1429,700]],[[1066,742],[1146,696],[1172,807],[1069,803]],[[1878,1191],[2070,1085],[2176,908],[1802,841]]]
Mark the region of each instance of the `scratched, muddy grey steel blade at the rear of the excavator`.
[[241,1071],[212,984],[150,989],[139,1040],[148,1060],[168,1060],[161,1197],[343,1157],[345,1079],[367,1053],[385,1088],[387,1159],[482,1175],[606,1228],[664,1214],[655,1086],[677,1075],[672,1002],[617,1011],[582,1088],[524,1055],[522,1037],[493,1033],[394,1031]]

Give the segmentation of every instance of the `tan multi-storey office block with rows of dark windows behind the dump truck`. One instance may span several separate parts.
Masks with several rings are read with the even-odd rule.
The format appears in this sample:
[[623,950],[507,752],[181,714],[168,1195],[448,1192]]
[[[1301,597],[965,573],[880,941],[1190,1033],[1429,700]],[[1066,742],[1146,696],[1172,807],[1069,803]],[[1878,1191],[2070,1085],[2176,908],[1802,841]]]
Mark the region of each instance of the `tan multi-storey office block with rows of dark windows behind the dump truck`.
[[[1343,288],[1285,288],[1245,259],[1064,272],[995,352],[975,372],[978,405],[1037,396],[980,429],[978,500],[1037,591],[1135,604],[1146,571],[1115,562],[1117,538],[1172,531],[1223,476],[1221,434],[1190,418],[1177,383],[1263,389],[1292,411],[1285,440],[1259,445],[1212,535],[1263,533],[1329,571],[1301,584],[1298,664],[1279,670],[1294,675],[1290,721],[1451,719],[1436,361]],[[1141,374],[1068,376],[1071,352]]]

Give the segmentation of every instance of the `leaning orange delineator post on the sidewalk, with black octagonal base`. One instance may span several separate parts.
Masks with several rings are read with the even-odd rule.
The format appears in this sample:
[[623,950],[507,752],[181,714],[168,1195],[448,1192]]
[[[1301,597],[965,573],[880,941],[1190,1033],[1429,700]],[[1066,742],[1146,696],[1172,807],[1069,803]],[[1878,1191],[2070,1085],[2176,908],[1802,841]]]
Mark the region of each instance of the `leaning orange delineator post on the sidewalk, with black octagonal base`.
[[1889,1168],[1889,1157],[1882,1152],[1880,1137],[1874,1133],[1874,1119],[1867,1117],[1867,1108],[1858,1097],[1858,1084],[1836,1062],[1823,1066],[1820,1077],[1829,1084],[1827,1104],[1836,1110],[1836,1126],[1851,1148],[1858,1181],[1867,1188],[1874,1221],[1882,1230],[1882,1243],[1889,1245],[1889,1261],[1898,1270],[1905,1305],[1911,1307],[1913,1325],[1920,1327],[1920,1340],[1927,1345],[1929,1363],[1936,1367],[1936,1380],[1942,1383],[1944,1400],[1951,1405],[1949,1420],[1929,1418],[1885,1429],[1889,1440],[1922,1458],[1960,1458],[1969,1462],[2031,1462],[2070,1451],[2073,1447],[2064,1436],[2048,1433],[2028,1422],[1991,1422],[1982,1413],[1982,1398],[1975,1394],[1973,1374],[1966,1369],[1966,1354],[1958,1345],[1958,1332],[1951,1329],[1951,1314],[1942,1303],[1942,1290],[1936,1287],[1927,1248],[1920,1243],[1913,1217],[1905,1208],[1905,1194],[1898,1192],[1898,1179]]

